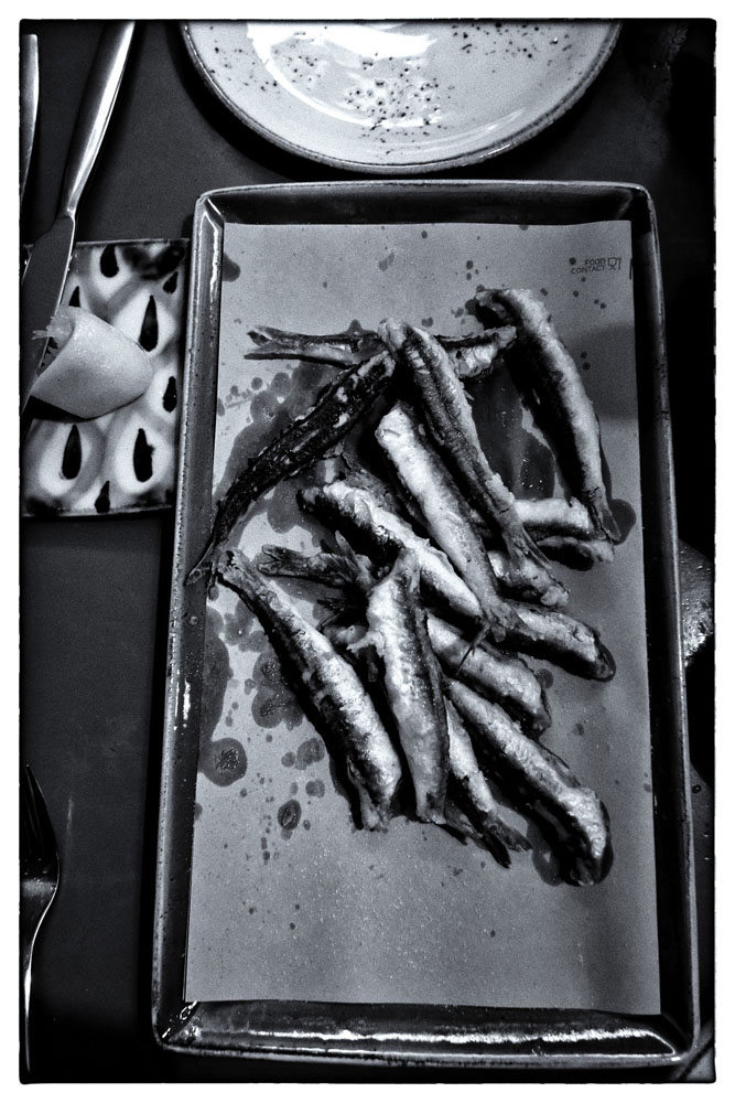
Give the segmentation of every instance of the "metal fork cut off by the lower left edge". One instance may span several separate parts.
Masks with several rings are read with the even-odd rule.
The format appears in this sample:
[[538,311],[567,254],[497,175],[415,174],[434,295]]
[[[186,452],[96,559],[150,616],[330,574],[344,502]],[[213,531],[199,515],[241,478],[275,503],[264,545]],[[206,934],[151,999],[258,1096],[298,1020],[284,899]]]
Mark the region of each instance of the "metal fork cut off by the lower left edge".
[[58,853],[46,804],[30,765],[21,771],[20,949],[23,998],[23,1056],[30,1069],[29,1010],[31,963],[39,928],[58,888]]

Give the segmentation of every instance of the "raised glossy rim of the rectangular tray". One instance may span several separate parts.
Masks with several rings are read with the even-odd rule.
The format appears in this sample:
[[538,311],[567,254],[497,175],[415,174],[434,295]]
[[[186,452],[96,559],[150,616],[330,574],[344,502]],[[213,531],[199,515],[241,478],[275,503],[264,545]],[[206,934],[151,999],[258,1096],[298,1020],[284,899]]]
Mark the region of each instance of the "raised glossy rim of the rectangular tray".
[[[170,908],[176,902],[182,903],[181,885],[172,892],[172,881],[176,880],[175,847],[171,846],[171,815],[176,804],[174,786],[176,783],[175,770],[175,739],[177,724],[181,719],[181,696],[182,686],[176,685],[174,672],[181,670],[181,641],[176,631],[182,619],[187,611],[187,600],[191,591],[182,592],[181,586],[185,570],[191,566],[185,563],[185,535],[186,528],[192,526],[191,511],[187,515],[185,508],[188,450],[187,442],[197,432],[197,422],[194,417],[190,418],[190,403],[192,400],[193,386],[201,385],[202,358],[208,354],[212,363],[216,364],[216,349],[218,339],[218,301],[212,302],[205,298],[205,310],[201,313],[196,308],[201,306],[201,297],[210,291],[213,286],[219,286],[217,277],[220,256],[218,249],[221,247],[221,234],[227,217],[227,211],[235,203],[246,203],[252,200],[256,204],[268,205],[269,200],[278,206],[279,203],[288,204],[290,201],[296,206],[301,206],[302,201],[311,202],[316,208],[325,207],[334,212],[334,201],[353,202],[360,200],[378,202],[382,196],[393,194],[407,200],[429,200],[429,202],[446,202],[447,197],[458,199],[464,195],[467,202],[478,203],[485,201],[495,204],[504,211],[512,207],[514,203],[537,202],[556,203],[563,218],[556,217],[555,222],[566,221],[594,221],[587,218],[569,218],[574,203],[585,204],[608,204],[612,212],[606,217],[628,217],[634,222],[637,219],[640,226],[639,251],[647,269],[647,279],[641,290],[641,303],[645,311],[645,319],[639,320],[636,326],[637,344],[639,330],[646,330],[648,340],[647,351],[653,367],[653,377],[649,383],[651,388],[650,398],[652,409],[657,415],[655,418],[655,441],[652,449],[656,454],[657,470],[661,476],[660,494],[658,501],[649,502],[648,507],[656,512],[657,533],[660,538],[657,542],[657,553],[659,556],[658,567],[662,578],[662,598],[664,600],[663,620],[666,621],[666,633],[669,643],[667,655],[667,668],[671,674],[670,699],[666,703],[666,709],[671,719],[674,720],[675,739],[674,751],[675,761],[670,763],[671,777],[669,783],[673,782],[677,791],[678,815],[675,822],[669,824],[674,833],[674,838],[679,847],[681,858],[680,880],[681,880],[681,914],[677,917],[680,923],[681,952],[684,959],[681,973],[683,976],[684,992],[682,995],[683,1026],[672,1021],[671,1016],[666,1013],[657,1017],[656,1020],[635,1020],[633,1017],[607,1016],[608,1034],[602,1034],[608,1043],[615,1039],[615,1029],[618,1030],[618,1040],[626,1034],[629,1035],[633,1028],[634,1034],[639,1031],[641,1045],[637,1051],[605,1051],[605,1047],[592,1041],[591,1047],[585,1051],[577,1049],[563,1049],[555,1052],[552,1049],[543,1051],[542,1041],[544,1031],[553,1035],[563,1022],[570,1022],[580,1016],[588,1019],[595,1018],[593,1013],[574,1011],[544,1011],[533,1009],[532,1013],[495,1009],[496,1020],[506,1022],[505,1040],[516,1043],[520,1040],[518,1019],[528,1017],[538,1011],[537,1016],[537,1046],[532,1052],[523,1047],[516,1048],[516,1051],[499,1051],[493,1048],[490,1031],[485,1025],[485,1035],[482,1035],[483,1025],[479,1030],[474,1029],[471,1035],[474,1037],[476,1049],[469,1046],[471,1035],[456,1030],[450,1037],[446,1031],[439,1038],[439,1042],[431,1041],[423,1045],[421,1031],[414,1032],[411,1045],[400,1039],[398,1048],[379,1045],[379,1037],[385,1031],[366,1030],[359,1036],[361,1045],[357,1039],[346,1039],[345,1031],[337,1037],[335,1031],[331,1036],[318,1030],[288,1031],[285,1038],[271,1027],[268,1027],[267,1015],[262,1019],[264,1003],[248,1004],[239,1002],[234,1004],[183,1004],[179,1000],[171,1000],[171,982],[175,982],[175,973],[183,978],[183,957],[179,955],[176,963],[171,964],[166,960],[166,924],[170,922]],[[571,206],[570,206],[571,204]],[[463,208],[464,210],[464,208]],[[558,212],[559,213],[559,212]],[[597,216],[598,218],[601,215]],[[248,219],[245,219],[248,221]],[[257,219],[256,219],[257,221]],[[279,219],[266,219],[279,221]],[[303,222],[303,218],[285,217],[284,222]],[[339,222],[338,217],[326,217],[325,222]],[[361,221],[370,221],[361,218]],[[380,221],[385,221],[385,213]],[[393,222],[420,221],[413,218],[392,218]],[[444,217],[434,221],[471,221],[467,217]],[[479,216],[475,221],[491,221]],[[500,218],[498,221],[514,221]],[[515,221],[520,221],[516,218]],[[536,219],[541,224],[541,219]],[[207,264],[214,266],[207,268]],[[153,1034],[158,1043],[164,1048],[176,1052],[195,1052],[201,1056],[238,1056],[259,1057],[274,1060],[293,1061],[322,1061],[322,1062],[347,1062],[359,1064],[378,1064],[400,1062],[409,1065],[448,1065],[458,1062],[463,1068],[487,1068],[502,1069],[515,1068],[526,1070],[582,1070],[587,1068],[604,1069],[615,1065],[618,1068],[640,1068],[640,1067],[667,1067],[682,1064],[693,1049],[699,1035],[699,1008],[698,1008],[698,963],[695,946],[695,902],[693,886],[693,842],[692,842],[692,820],[691,802],[689,794],[689,758],[688,758],[688,735],[685,719],[684,698],[684,675],[681,649],[681,623],[679,606],[679,572],[675,548],[675,507],[673,499],[673,465],[671,462],[671,432],[668,419],[668,390],[666,376],[666,347],[663,338],[663,306],[661,291],[660,259],[658,254],[658,236],[656,228],[656,216],[653,204],[649,193],[639,184],[619,182],[549,182],[549,181],[483,181],[483,180],[441,180],[441,181],[417,181],[417,180],[389,180],[389,181],[347,181],[327,183],[285,183],[285,184],[255,184],[247,186],[234,186],[217,189],[205,192],[197,201],[194,215],[194,229],[191,249],[191,279],[188,291],[187,309],[187,331],[184,357],[184,404],[182,407],[182,429],[181,429],[181,461],[179,468],[179,485],[176,495],[176,528],[174,545],[174,570],[172,577],[171,591],[171,621],[169,636],[169,677],[166,686],[166,717],[163,745],[163,768],[161,774],[161,815],[159,829],[159,853],[156,863],[156,903],[154,923],[153,944],[153,985],[152,985],[152,1020]],[[641,306],[637,301],[637,311]],[[638,352],[638,350],[637,350]],[[214,357],[214,358],[213,358]],[[205,356],[206,358],[206,356]],[[213,381],[210,379],[210,386]],[[641,381],[639,378],[639,389]],[[214,404],[212,404],[214,405]],[[195,410],[196,403],[194,403]],[[212,410],[214,417],[214,409]],[[198,432],[202,432],[201,420]],[[641,433],[641,437],[645,435]],[[642,445],[641,445],[642,448]],[[201,503],[196,511],[197,517],[194,523],[206,532],[208,527],[208,508],[205,511]],[[205,516],[206,513],[206,516]],[[652,526],[651,526],[652,527]],[[660,546],[659,546],[660,545]],[[648,577],[647,577],[648,585]],[[198,587],[192,588],[197,590]],[[647,598],[647,603],[648,598]],[[649,653],[650,663],[650,653]],[[674,810],[675,812],[675,810]],[[179,840],[179,860],[181,864],[182,842]],[[184,855],[185,861],[185,855]],[[660,908],[659,908],[660,911]],[[660,917],[659,917],[660,919]],[[183,990],[180,988],[180,992]],[[662,994],[663,997],[663,994]],[[279,1002],[273,1002],[278,1004]],[[307,1005],[310,1008],[320,1005]],[[332,1008],[338,1005],[331,1005]],[[353,1008],[365,1010],[365,1005],[350,1005]],[[399,1005],[394,1005],[399,1006]],[[429,1005],[426,1005],[429,1006]],[[289,1005],[293,1007],[293,1005]],[[425,1008],[424,1008],[425,1009]],[[476,1013],[478,1009],[468,1009]],[[483,1009],[479,1009],[483,1010]],[[461,1008],[453,1008],[454,1013],[461,1013]],[[605,1016],[605,1013],[599,1013]],[[462,1015],[460,1016],[462,1017]],[[477,1018],[477,1016],[475,1016]],[[482,1019],[482,1015],[479,1016]],[[616,1028],[610,1028],[609,1024],[616,1022]],[[236,1025],[239,1024],[239,1025]],[[458,1025],[457,1025],[458,1026]],[[626,1029],[627,1028],[627,1029]],[[582,1041],[583,1036],[590,1036],[590,1029],[579,1022],[572,1028],[577,1029],[577,1040]],[[296,1037],[292,1037],[293,1035]],[[497,1029],[495,1030],[497,1034]],[[596,1035],[598,1028],[594,1028],[592,1034]],[[392,1031],[394,1035],[396,1031]],[[281,1040],[279,1040],[281,1039]],[[645,1041],[644,1041],[645,1039]],[[425,1039],[424,1039],[425,1041]]]

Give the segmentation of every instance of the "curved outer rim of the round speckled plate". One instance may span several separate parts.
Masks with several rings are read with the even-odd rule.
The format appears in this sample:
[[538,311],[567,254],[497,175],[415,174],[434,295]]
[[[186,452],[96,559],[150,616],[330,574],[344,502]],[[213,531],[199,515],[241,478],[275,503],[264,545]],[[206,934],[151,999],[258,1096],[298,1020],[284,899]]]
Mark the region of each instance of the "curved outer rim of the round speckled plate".
[[[372,160],[355,161],[349,158],[341,158],[324,153],[321,150],[312,149],[307,146],[302,146],[299,142],[290,141],[288,138],[282,137],[277,131],[267,127],[264,124],[260,122],[253,115],[247,111],[245,108],[236,104],[230,96],[219,86],[219,84],[214,79],[212,73],[204,64],[190,33],[190,26],[192,23],[203,23],[208,22],[207,20],[182,20],[180,23],[180,31],[184,40],[184,45],[186,46],[187,54],[192,61],[197,75],[207,86],[210,93],[213,93],[217,99],[230,111],[238,121],[255,130],[256,133],[260,135],[267,141],[272,142],[280,149],[285,150],[285,152],[294,156],[302,157],[311,161],[316,161],[321,164],[329,164],[334,168],[342,169],[349,172],[365,172],[365,173],[376,173],[379,175],[414,175],[422,172],[441,172],[445,169],[458,169],[468,164],[477,164],[482,161],[490,160],[494,157],[498,157],[501,153],[506,153],[511,149],[516,149],[518,146],[523,144],[530,139],[534,138],[542,130],[545,130],[559,118],[566,114],[574,104],[582,98],[582,96],[587,92],[591,85],[597,79],[599,73],[604,66],[609,61],[609,57],[615,49],[618,38],[620,35],[621,20],[619,19],[560,19],[555,22],[566,22],[566,23],[599,23],[607,26],[607,32],[599,45],[597,52],[595,53],[593,60],[590,62],[587,68],[584,71],[582,76],[577,78],[574,86],[569,89],[564,95],[558,100],[554,107],[549,108],[543,114],[537,116],[531,122],[521,127],[519,130],[510,135],[506,140],[494,144],[489,142],[488,144],[482,147],[478,150],[469,150],[465,153],[460,153],[453,157],[446,158],[429,158],[429,159],[418,159],[414,161],[407,161],[400,163],[385,163]],[[228,22],[223,20],[223,22]],[[230,20],[229,22],[238,22],[237,20]],[[242,20],[241,22],[248,22]]]

